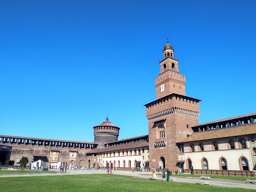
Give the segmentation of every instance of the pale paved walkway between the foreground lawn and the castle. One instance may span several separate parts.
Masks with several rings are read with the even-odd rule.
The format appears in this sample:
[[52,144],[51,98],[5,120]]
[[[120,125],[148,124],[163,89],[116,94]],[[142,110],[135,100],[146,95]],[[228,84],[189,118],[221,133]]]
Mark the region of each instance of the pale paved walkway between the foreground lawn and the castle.
[[[41,171],[38,171],[41,173]],[[52,171],[50,171],[52,172]],[[54,170],[54,173],[44,172],[42,174],[10,174],[10,175],[0,175],[0,177],[29,177],[29,176],[55,176],[55,175],[79,175],[79,174],[107,174],[106,170],[91,170],[91,169],[84,169],[81,171],[80,169],[78,171],[75,171],[74,169],[68,170],[68,172],[58,172]],[[0,172],[1,173],[1,172]],[[132,171],[116,171],[112,172],[114,175],[127,175],[131,177],[137,177],[137,178],[143,178],[148,179],[151,177],[151,172],[132,172]],[[207,175],[208,176],[208,175]],[[158,176],[159,182],[161,181],[162,177],[161,175]],[[256,184],[252,183],[246,183],[247,177],[244,177],[243,180],[229,180],[229,179],[209,179],[209,180],[201,180],[200,177],[180,177],[180,176],[171,176],[170,180],[173,182],[180,182],[180,183],[195,183],[196,181],[209,181],[209,185],[211,186],[218,186],[218,187],[230,187],[230,188],[244,188],[244,189],[254,189],[256,190]]]

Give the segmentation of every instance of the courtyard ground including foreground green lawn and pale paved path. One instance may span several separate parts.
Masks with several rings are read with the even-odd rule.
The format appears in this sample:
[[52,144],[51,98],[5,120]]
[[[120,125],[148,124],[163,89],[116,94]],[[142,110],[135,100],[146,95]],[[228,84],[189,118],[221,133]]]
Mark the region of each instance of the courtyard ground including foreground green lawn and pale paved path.
[[[0,191],[256,191],[256,184],[244,180],[211,178],[209,185],[195,184],[200,177],[171,176],[172,182],[149,180],[151,172],[116,171],[112,175],[106,170],[85,169],[68,172],[38,171],[41,174],[3,174],[0,170]],[[13,171],[10,171],[13,172]],[[186,175],[187,176],[187,175]],[[207,175],[209,176],[209,175]],[[12,177],[12,178],[11,178]],[[250,191],[250,190],[249,190]]]

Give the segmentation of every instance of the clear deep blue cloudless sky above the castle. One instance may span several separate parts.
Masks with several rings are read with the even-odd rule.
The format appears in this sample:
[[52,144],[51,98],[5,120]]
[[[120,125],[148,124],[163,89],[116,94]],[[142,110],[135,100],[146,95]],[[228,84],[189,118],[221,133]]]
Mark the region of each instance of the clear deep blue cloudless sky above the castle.
[[0,134],[148,134],[167,33],[199,123],[256,112],[255,0],[1,0]]

